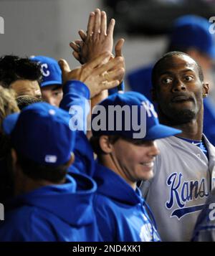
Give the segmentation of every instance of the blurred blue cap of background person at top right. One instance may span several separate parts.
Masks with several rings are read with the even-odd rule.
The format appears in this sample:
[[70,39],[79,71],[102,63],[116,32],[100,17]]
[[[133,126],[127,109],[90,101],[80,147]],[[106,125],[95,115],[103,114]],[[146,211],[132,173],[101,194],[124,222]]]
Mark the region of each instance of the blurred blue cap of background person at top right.
[[209,32],[210,25],[201,16],[181,16],[173,23],[170,42],[176,46],[194,47],[214,58],[214,34]]

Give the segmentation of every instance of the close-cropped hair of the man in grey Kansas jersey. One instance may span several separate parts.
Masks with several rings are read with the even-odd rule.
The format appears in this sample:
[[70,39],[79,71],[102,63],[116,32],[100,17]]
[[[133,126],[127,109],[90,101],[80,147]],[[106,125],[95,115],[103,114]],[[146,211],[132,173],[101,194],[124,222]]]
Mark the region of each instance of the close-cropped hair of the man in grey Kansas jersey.
[[[163,65],[163,62],[165,62],[168,58],[171,58],[173,56],[184,56],[184,55],[190,57],[185,52],[176,52],[176,51],[167,52],[166,54],[163,55],[163,57],[161,57],[160,60],[158,60],[158,62],[156,62],[156,64],[153,67],[152,75],[151,75],[151,81],[152,81],[153,88],[156,88],[156,76],[157,76],[158,70]],[[191,58],[191,59],[194,60],[193,58]],[[198,72],[199,72],[199,79],[201,80],[201,82],[204,82],[204,75],[203,75],[202,68],[199,65],[199,63],[196,62],[196,60],[194,60],[194,62],[196,63],[196,67],[197,67]]]

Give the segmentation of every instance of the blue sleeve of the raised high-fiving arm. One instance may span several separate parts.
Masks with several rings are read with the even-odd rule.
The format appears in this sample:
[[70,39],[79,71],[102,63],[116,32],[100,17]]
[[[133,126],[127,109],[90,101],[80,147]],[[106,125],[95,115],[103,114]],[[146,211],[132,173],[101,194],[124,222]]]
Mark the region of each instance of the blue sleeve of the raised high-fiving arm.
[[69,173],[82,173],[92,176],[94,172],[94,158],[90,143],[85,136],[87,131],[87,115],[90,113],[90,90],[80,81],[68,81],[63,87],[63,98],[60,108],[69,111],[76,131],[75,162],[70,166]]

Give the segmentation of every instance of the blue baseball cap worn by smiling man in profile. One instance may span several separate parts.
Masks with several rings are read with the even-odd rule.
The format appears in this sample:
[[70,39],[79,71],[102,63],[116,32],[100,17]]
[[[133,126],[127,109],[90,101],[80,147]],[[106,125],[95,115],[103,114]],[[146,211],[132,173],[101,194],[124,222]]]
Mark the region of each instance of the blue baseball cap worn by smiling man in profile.
[[[115,111],[114,111],[115,110]],[[153,104],[136,92],[115,93],[92,110],[92,135],[121,135],[153,141],[181,133],[161,125]]]

